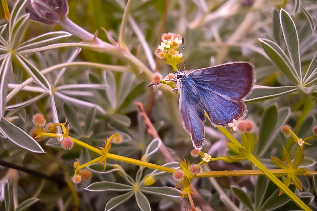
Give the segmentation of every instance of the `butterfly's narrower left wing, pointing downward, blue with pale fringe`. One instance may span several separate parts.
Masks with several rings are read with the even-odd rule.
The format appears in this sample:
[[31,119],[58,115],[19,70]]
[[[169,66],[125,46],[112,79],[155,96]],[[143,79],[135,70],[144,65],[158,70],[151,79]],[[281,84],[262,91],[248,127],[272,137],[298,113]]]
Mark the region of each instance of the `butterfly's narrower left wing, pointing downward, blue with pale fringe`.
[[[191,135],[193,145],[201,150],[204,145],[204,122],[206,116],[202,105],[197,104],[199,90],[193,81],[188,79],[182,82],[179,88],[179,109],[183,119],[185,130]],[[192,85],[192,86],[191,86]]]

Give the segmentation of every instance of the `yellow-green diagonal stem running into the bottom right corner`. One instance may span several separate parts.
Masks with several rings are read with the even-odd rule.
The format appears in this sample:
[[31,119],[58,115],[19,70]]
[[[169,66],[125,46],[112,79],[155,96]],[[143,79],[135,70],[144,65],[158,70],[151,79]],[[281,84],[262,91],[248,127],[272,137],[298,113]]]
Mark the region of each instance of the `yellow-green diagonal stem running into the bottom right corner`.
[[268,177],[277,187],[279,187],[293,202],[295,202],[302,210],[311,211],[311,209],[295,195],[283,182],[281,182],[271,171],[253,155],[249,155],[248,160],[253,163],[258,169],[260,169],[266,177]]

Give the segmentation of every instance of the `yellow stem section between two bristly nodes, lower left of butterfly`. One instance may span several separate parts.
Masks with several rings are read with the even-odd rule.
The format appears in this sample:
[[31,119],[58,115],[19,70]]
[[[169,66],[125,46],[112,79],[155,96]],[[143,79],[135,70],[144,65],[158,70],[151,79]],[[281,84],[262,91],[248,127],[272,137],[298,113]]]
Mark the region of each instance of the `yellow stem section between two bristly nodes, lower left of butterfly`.
[[157,164],[152,164],[152,163],[145,162],[145,161],[140,161],[140,160],[133,159],[133,158],[124,157],[121,155],[115,155],[115,154],[108,153],[107,158],[117,160],[117,161],[122,161],[125,163],[135,164],[138,166],[147,167],[150,169],[157,169],[157,170],[165,171],[167,173],[174,173],[175,172],[175,169],[172,169],[172,168],[160,166]]

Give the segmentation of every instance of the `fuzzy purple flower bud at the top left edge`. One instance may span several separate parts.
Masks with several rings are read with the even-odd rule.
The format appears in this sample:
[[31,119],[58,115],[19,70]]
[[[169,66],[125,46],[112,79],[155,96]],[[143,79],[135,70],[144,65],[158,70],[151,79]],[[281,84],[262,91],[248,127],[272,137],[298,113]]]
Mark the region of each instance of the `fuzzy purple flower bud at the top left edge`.
[[25,8],[30,19],[44,24],[57,24],[68,14],[67,0],[29,0]]

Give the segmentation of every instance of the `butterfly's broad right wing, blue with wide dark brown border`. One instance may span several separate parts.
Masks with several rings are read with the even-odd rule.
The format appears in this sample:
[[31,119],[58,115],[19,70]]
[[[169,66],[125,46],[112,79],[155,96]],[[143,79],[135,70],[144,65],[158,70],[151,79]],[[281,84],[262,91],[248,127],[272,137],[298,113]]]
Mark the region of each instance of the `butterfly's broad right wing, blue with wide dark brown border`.
[[[235,62],[198,69],[188,78],[199,92],[197,104],[207,112],[212,123],[227,126],[233,119],[244,117],[246,105],[243,99],[251,92],[254,83],[250,63]],[[183,84],[191,88],[185,81]]]

